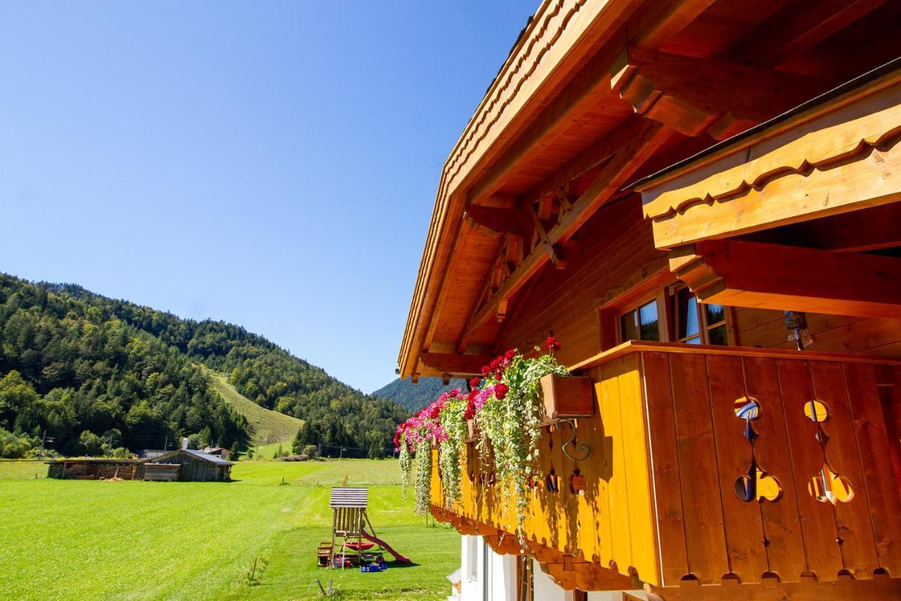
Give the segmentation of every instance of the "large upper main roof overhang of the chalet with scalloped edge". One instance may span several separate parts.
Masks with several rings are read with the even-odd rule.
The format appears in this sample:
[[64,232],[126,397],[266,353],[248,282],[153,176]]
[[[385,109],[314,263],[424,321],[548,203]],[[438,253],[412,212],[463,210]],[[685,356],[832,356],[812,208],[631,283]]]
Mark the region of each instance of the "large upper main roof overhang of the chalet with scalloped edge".
[[626,184],[901,54],[898,5],[542,2],[444,164],[401,376],[478,373]]

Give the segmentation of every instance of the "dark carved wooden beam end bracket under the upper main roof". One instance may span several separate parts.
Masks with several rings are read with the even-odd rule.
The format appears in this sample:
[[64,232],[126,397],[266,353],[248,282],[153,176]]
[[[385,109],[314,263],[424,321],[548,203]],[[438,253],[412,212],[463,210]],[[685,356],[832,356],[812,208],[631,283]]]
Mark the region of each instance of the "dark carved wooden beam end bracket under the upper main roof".
[[824,91],[819,79],[722,60],[626,48],[610,85],[636,113],[686,135],[718,140],[748,129]]

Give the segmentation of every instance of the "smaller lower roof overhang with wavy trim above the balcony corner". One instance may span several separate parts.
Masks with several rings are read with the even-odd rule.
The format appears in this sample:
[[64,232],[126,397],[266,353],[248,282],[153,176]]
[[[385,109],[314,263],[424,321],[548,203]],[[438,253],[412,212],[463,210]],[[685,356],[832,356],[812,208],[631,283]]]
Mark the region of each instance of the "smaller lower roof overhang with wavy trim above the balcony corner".
[[636,190],[702,301],[901,319],[899,141],[901,59]]

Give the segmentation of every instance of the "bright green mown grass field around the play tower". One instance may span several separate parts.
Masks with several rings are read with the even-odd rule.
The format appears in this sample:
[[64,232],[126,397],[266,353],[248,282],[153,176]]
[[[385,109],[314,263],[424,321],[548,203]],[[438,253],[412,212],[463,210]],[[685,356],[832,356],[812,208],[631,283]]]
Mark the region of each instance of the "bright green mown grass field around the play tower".
[[[445,576],[460,565],[459,535],[427,527],[412,499],[401,502],[393,460],[240,462],[229,484],[45,473],[40,463],[0,462],[2,598],[315,598],[314,578],[326,587],[332,578],[334,598],[444,598]],[[331,537],[330,488],[345,478],[369,486],[378,536],[414,565],[373,574],[316,567],[317,543]]]

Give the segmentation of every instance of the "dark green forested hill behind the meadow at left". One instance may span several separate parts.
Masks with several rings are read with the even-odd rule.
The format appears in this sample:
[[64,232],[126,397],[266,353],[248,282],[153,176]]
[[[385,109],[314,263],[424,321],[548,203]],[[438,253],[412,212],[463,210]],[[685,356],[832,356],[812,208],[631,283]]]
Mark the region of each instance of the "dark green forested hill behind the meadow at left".
[[314,443],[385,448],[407,415],[239,326],[0,274],[0,430],[47,431],[63,452],[110,440],[152,448],[190,434],[245,440],[247,421],[198,363],[259,405],[307,421]]

